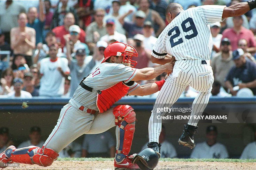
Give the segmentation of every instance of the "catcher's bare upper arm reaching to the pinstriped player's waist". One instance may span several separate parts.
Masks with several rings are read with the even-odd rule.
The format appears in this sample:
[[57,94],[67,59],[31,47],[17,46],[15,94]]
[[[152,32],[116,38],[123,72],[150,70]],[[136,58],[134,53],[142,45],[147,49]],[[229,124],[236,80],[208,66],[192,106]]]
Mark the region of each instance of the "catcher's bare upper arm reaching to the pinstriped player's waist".
[[173,63],[169,62],[155,68],[146,67],[143,69],[138,69],[138,72],[136,73],[136,75],[133,77],[131,81],[152,80],[155,77],[162,74],[163,72],[171,73],[173,71],[173,66],[174,66],[174,62]]

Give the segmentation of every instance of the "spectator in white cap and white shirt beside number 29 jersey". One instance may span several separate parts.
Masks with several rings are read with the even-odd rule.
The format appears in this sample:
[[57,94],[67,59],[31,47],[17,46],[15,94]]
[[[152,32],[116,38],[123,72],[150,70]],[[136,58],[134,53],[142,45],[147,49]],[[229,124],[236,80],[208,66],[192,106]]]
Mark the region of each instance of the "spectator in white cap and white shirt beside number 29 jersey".
[[211,29],[211,36],[212,36],[212,52],[211,52],[211,58],[220,51],[220,42],[222,35],[220,33],[220,22],[215,22],[213,24],[210,24]]

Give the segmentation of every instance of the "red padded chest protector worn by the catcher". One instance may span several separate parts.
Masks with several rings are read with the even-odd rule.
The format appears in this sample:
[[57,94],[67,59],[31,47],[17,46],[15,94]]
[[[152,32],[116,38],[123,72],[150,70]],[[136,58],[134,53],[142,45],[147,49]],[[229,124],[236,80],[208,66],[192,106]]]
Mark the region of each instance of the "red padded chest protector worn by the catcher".
[[108,110],[115,102],[120,100],[128,93],[129,87],[119,82],[114,86],[98,91],[96,105],[100,113]]

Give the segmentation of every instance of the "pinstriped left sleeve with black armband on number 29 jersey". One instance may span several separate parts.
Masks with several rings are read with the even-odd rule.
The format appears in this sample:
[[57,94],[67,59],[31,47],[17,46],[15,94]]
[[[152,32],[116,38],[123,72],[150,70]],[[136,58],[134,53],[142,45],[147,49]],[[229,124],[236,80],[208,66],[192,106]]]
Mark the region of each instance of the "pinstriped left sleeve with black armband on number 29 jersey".
[[156,44],[153,47],[153,51],[151,53],[153,57],[161,59],[167,55],[166,46],[165,46],[166,40],[167,40],[167,34],[165,33],[165,29],[164,29],[164,31],[157,38]]

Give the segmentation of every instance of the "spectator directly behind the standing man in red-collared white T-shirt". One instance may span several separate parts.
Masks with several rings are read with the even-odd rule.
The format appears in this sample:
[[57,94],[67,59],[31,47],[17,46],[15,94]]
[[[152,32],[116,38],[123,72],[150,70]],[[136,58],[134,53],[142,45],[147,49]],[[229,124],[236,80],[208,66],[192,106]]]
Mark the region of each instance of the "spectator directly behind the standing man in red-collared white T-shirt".
[[[34,58],[33,58],[34,64],[37,64],[43,58],[49,57],[49,47],[57,43],[55,33],[52,31],[47,32],[45,41],[46,41],[46,44],[38,43],[36,46],[36,51],[34,53]],[[58,57],[65,56],[65,54],[62,53],[61,47],[58,49],[57,56]]]

